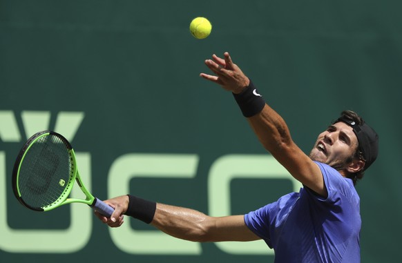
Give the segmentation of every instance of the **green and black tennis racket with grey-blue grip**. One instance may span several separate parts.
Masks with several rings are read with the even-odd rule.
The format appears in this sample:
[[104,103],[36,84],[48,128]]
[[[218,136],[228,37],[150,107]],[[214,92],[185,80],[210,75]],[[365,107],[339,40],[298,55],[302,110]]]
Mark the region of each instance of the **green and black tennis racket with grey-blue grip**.
[[[86,199],[68,198],[75,181]],[[36,133],[20,150],[12,171],[12,190],[23,206],[34,211],[50,211],[70,203],[88,204],[106,217],[114,211],[82,183],[70,142],[50,130]]]

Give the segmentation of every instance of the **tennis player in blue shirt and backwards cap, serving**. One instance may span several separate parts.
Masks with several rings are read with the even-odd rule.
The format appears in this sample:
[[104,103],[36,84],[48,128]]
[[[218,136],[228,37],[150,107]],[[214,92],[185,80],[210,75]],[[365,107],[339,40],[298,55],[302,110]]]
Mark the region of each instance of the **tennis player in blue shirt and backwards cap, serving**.
[[303,184],[246,215],[210,217],[199,211],[160,204],[133,195],[105,202],[115,208],[102,222],[118,227],[123,215],[195,242],[265,240],[275,262],[360,262],[360,199],[354,185],[374,162],[378,135],[347,110],[318,135],[309,155],[292,141],[285,121],[262,99],[228,52],[205,61],[213,75],[201,77],[233,93],[262,146]]

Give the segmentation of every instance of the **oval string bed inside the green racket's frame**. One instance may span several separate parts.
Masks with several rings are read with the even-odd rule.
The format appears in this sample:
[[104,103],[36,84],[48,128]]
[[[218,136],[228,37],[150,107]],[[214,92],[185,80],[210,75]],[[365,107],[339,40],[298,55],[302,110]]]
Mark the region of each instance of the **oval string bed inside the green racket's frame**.
[[63,199],[73,176],[73,162],[66,144],[55,135],[40,137],[21,163],[19,189],[24,202],[44,208]]

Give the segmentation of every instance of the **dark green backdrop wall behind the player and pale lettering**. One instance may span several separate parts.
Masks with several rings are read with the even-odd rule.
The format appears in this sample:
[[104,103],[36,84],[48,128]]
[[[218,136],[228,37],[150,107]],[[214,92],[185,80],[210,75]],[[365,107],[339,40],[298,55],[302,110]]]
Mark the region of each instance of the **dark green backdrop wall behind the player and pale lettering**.
[[[193,177],[140,177],[122,185],[120,194],[128,188],[158,202],[209,213],[216,201],[209,199],[209,175],[220,157],[269,157],[231,94],[198,77],[208,72],[204,59],[224,51],[231,52],[284,117],[306,153],[344,109],[356,110],[376,128],[379,159],[357,186],[361,257],[362,262],[400,262],[401,9],[399,1],[373,0],[1,0],[1,262],[84,262],[83,257],[102,262],[274,262],[272,255],[234,255],[216,244],[201,244],[199,255],[126,253],[111,238],[113,230],[92,215],[85,223],[90,226],[88,242],[78,251],[16,252],[6,245],[21,230],[67,229],[71,207],[82,206],[35,213],[13,197],[15,156],[32,135],[28,131],[39,128],[73,130],[73,146],[89,158],[90,175],[83,176],[90,177],[92,191],[101,199],[119,191],[111,191],[110,176],[122,156],[196,156]],[[213,24],[204,40],[189,33],[191,19],[198,16]],[[68,121],[58,122],[60,113],[83,119],[70,127]],[[275,201],[291,191],[289,182],[233,180],[231,213]],[[125,224],[152,231],[137,222]],[[43,242],[22,238],[21,246]]]

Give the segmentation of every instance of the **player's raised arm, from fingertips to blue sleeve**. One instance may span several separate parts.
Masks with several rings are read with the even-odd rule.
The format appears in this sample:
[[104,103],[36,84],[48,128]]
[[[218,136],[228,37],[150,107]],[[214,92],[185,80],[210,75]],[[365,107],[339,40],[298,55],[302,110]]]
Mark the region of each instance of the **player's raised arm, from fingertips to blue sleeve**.
[[[224,53],[224,59],[213,55],[205,64],[215,75],[201,73],[200,76],[235,94],[236,101],[240,102],[240,108],[243,114],[246,113],[245,116],[262,146],[299,182],[326,197],[327,190],[320,168],[293,142],[283,118],[262,101],[256,89],[250,86],[249,78],[233,64],[229,53]],[[258,110],[253,108],[253,100],[258,101]]]

